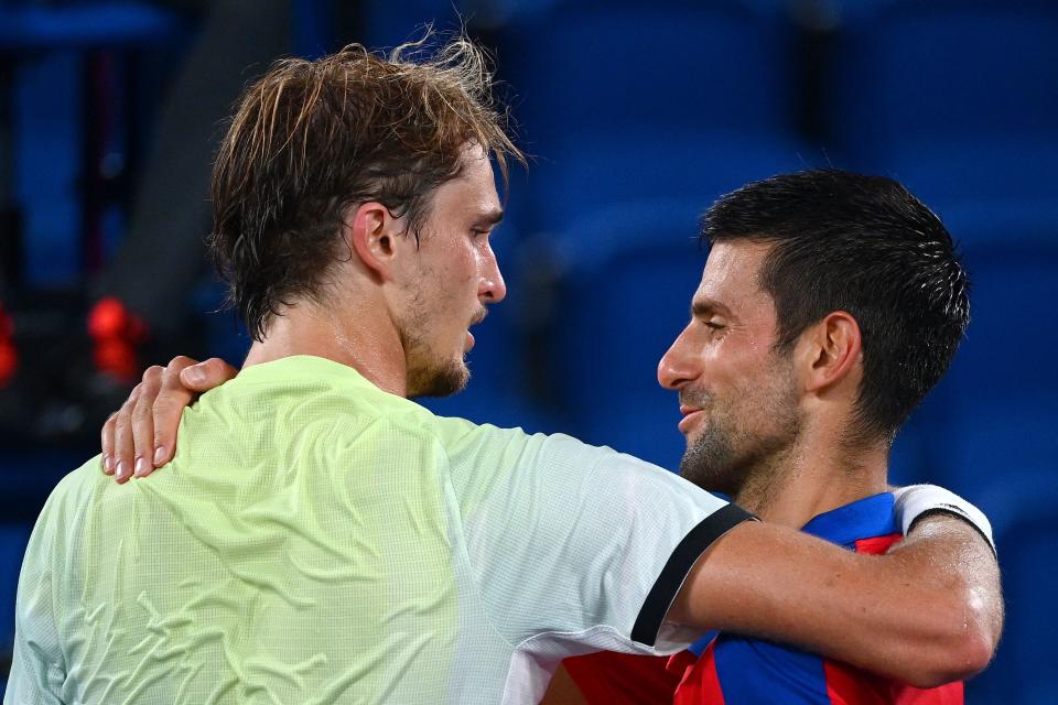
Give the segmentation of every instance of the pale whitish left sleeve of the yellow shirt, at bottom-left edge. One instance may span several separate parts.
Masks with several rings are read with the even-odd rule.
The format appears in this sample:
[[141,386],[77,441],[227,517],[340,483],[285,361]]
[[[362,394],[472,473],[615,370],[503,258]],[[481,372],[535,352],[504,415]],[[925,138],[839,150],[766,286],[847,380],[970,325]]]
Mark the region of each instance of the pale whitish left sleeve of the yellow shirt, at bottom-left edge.
[[65,682],[53,609],[53,501],[45,505],[22,561],[15,601],[14,648],[4,705],[61,705]]

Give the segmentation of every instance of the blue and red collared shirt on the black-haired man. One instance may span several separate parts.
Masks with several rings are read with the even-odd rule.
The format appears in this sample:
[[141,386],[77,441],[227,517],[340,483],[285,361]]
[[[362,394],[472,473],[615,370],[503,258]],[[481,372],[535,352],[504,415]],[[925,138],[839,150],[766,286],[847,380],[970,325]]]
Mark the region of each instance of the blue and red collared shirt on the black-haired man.
[[[885,553],[903,536],[893,495],[820,514],[802,531],[856,553]],[[666,660],[609,652],[563,664],[589,703],[620,705],[962,705],[962,683],[919,690],[762,639],[712,633]]]

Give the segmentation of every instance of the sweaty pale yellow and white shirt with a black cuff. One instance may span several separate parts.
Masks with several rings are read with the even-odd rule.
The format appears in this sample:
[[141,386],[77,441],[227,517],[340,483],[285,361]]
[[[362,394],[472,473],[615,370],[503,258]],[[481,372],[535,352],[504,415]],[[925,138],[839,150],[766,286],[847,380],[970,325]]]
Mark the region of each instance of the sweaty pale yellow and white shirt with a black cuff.
[[536,702],[566,655],[700,636],[661,617],[738,514],[336,362],[252,366],[185,411],[150,478],[96,458],[52,492],[4,703]]

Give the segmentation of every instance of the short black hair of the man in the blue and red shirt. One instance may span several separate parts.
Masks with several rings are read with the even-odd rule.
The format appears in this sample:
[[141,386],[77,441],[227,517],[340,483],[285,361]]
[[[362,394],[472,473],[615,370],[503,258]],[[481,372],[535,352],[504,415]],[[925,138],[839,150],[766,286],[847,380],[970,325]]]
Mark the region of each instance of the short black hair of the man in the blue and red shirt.
[[831,312],[856,319],[857,438],[892,440],[965,333],[970,283],[951,236],[892,178],[812,170],[758,181],[720,198],[701,237],[771,245],[760,286],[775,302],[777,348]]

